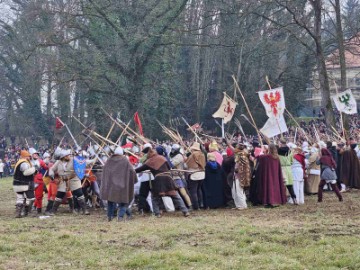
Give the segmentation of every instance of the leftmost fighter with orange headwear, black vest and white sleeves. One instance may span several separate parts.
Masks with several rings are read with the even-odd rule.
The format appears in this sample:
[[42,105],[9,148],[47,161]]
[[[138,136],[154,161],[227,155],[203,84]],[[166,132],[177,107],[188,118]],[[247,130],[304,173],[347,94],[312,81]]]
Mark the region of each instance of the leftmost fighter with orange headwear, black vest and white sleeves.
[[35,200],[34,174],[36,173],[36,169],[32,166],[30,159],[30,153],[22,150],[20,152],[20,159],[14,169],[13,189],[16,193],[15,217],[17,218],[23,217],[23,209],[24,216],[27,216]]

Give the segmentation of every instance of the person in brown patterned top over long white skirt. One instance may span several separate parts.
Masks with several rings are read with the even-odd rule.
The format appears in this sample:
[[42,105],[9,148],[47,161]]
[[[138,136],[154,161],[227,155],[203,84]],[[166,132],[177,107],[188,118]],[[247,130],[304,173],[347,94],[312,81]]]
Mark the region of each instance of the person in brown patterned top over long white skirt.
[[250,154],[244,144],[239,144],[235,152],[235,174],[231,192],[234,198],[235,207],[238,210],[246,209],[245,188],[250,186]]

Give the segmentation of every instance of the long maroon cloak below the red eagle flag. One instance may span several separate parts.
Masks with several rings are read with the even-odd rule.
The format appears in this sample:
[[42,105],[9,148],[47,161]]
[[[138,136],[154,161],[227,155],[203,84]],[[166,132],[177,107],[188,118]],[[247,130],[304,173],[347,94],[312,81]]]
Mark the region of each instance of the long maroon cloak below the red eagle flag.
[[256,202],[262,205],[285,204],[286,190],[280,160],[271,155],[263,155],[258,157],[257,162]]

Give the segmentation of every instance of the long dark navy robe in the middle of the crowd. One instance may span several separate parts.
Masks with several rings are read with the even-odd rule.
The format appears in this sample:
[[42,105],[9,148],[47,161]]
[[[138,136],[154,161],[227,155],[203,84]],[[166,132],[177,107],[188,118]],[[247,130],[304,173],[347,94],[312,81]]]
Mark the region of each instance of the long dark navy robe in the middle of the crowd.
[[206,163],[205,180],[203,183],[204,207],[219,208],[225,204],[224,199],[224,182],[221,166],[215,162],[214,167]]

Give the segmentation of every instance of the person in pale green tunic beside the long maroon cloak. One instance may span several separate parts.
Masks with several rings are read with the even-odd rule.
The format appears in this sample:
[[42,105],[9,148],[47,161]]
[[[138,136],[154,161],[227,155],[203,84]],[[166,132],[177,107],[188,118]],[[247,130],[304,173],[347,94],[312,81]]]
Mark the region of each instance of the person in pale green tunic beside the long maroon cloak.
[[290,151],[290,148],[286,145],[284,139],[280,140],[281,146],[278,149],[279,159],[281,163],[282,175],[284,177],[285,185],[287,190],[290,193],[290,197],[294,204],[298,204],[296,200],[296,195],[294,192],[294,178],[291,172],[291,165],[294,160],[294,155]]

